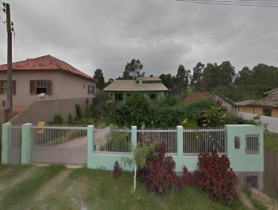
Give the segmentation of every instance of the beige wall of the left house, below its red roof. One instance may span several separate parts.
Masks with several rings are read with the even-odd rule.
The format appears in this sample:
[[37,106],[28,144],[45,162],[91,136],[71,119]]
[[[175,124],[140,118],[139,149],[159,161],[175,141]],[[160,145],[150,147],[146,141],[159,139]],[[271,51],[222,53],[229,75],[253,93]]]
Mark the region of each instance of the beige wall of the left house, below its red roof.
[[[0,80],[6,80],[6,72],[0,72]],[[36,101],[53,99],[73,99],[89,97],[88,86],[95,86],[95,82],[76,76],[68,72],[13,72],[13,80],[16,81],[16,95],[13,95],[13,110],[22,111]],[[52,94],[44,98],[38,95],[30,95],[31,80],[51,80]],[[84,87],[83,87],[84,86]],[[95,88],[96,90],[96,88]],[[6,100],[7,95],[0,95],[0,100]]]

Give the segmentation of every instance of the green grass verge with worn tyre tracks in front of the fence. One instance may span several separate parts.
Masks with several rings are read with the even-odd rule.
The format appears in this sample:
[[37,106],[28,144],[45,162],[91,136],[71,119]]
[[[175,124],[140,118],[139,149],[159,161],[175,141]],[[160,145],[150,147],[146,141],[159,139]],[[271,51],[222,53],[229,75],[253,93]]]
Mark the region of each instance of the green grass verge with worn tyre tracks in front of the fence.
[[138,181],[131,193],[133,173],[63,165],[0,165],[0,209],[247,209],[239,200],[231,207],[211,201],[197,188],[169,189],[163,196]]

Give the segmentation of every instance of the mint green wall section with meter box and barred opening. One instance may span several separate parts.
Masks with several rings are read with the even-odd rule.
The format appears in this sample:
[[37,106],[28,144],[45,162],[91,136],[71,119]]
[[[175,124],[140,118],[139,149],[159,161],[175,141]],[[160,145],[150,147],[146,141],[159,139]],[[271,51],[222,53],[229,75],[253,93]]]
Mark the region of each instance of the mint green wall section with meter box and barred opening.
[[[227,155],[236,172],[263,172],[263,127],[237,124],[226,125]],[[259,134],[259,154],[245,154],[245,134]],[[240,148],[235,149],[234,137],[239,136]]]

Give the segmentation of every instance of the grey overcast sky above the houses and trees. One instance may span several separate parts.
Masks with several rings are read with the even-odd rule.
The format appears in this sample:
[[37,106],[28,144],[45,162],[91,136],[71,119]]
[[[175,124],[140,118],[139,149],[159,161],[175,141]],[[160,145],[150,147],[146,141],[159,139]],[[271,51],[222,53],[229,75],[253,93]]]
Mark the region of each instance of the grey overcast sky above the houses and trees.
[[[237,71],[278,66],[278,8],[174,0],[6,2],[18,60],[50,54],[90,75],[101,68],[106,80],[121,76],[132,58],[142,61],[147,76],[176,74],[179,64],[192,70],[199,61],[230,60]],[[0,63],[6,63],[1,22]]]

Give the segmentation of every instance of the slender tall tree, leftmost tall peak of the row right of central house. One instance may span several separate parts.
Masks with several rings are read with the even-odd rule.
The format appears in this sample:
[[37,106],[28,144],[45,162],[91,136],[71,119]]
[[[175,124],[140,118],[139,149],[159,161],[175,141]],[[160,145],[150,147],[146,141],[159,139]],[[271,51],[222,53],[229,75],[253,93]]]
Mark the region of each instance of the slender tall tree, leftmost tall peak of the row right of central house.
[[179,65],[177,76],[175,79],[175,89],[177,92],[183,92],[188,89],[190,79],[190,70],[186,70],[183,65]]

